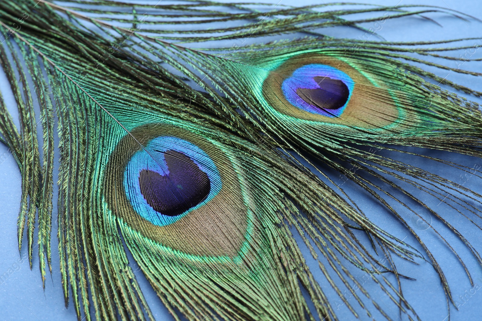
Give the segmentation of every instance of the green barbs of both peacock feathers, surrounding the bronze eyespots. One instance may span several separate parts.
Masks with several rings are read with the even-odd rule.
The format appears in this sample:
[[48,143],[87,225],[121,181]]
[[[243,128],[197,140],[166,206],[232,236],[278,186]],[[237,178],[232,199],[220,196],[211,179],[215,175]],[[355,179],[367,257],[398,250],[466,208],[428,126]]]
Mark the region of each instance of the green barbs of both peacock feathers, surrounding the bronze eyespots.
[[[347,288],[350,288],[349,283],[355,283],[362,295],[389,319],[362,284],[341,265],[337,255],[369,272],[410,320],[418,319],[403,298],[402,291],[383,276],[384,272],[392,272],[397,279],[404,277],[393,268],[391,256],[387,255],[388,264],[380,264],[352,230],[365,231],[375,250],[391,252],[410,261],[420,255],[370,222],[356,205],[348,204],[286,152],[308,153],[353,180],[386,205],[415,236],[415,231],[392,203],[378,192],[404,205],[402,201],[383,190],[375,180],[401,190],[442,221],[438,213],[404,191],[396,180],[412,184],[443,202],[455,202],[479,215],[480,209],[465,203],[455,190],[463,191],[461,194],[471,199],[482,195],[421,168],[364,152],[364,148],[375,147],[408,153],[397,148],[397,145],[405,145],[480,157],[482,132],[478,106],[441,90],[420,76],[476,96],[481,93],[441,79],[398,58],[464,71],[406,55],[418,53],[440,57],[434,53],[440,49],[406,49],[402,47],[406,43],[334,39],[312,31],[342,24],[361,28],[358,23],[382,18],[358,21],[340,18],[352,13],[392,11],[396,12],[392,17],[402,17],[440,8],[419,10],[418,6],[411,6],[316,11],[324,7],[323,4],[302,8],[268,6],[268,10],[259,11],[246,3],[227,5],[213,1],[202,4],[183,1],[183,4],[161,3],[156,6],[91,1],[92,8],[88,12],[101,15],[98,20],[82,13],[87,11],[82,6],[83,1],[66,0],[63,3],[64,7],[44,0],[21,3],[4,0],[0,3],[0,31],[7,38],[0,46],[0,62],[18,103],[20,117],[18,130],[0,99],[0,134],[2,141],[12,150],[22,174],[19,247],[26,230],[31,265],[37,219],[40,271],[44,280],[46,270],[52,272],[54,113],[58,117],[58,251],[65,302],[67,305],[69,297],[73,298],[79,319],[84,315],[86,320],[91,320],[91,312],[97,320],[153,319],[129,266],[125,242],[147,280],[177,320],[178,313],[188,320],[314,320],[302,295],[303,288],[308,290],[309,300],[320,319],[337,320],[323,289],[308,269],[289,226],[301,235],[313,257],[318,256],[314,247],[319,250],[327,262],[327,265],[320,262],[321,272],[355,316],[358,312],[342,295],[343,288],[336,285],[336,279]],[[203,9],[206,5],[220,9]],[[100,6],[103,9],[99,9]],[[226,6],[244,13],[229,13],[222,8]],[[105,7],[110,9],[105,10]],[[154,9],[157,11],[150,15],[151,19],[139,15],[141,10]],[[239,23],[260,16],[266,20],[245,25]],[[271,16],[284,17],[268,19]],[[176,20],[179,18],[190,20]],[[219,21],[234,25],[208,30],[181,28],[187,23]],[[97,28],[83,25],[85,22]],[[21,28],[15,27],[19,23]],[[135,30],[115,26],[118,23],[132,24]],[[136,31],[140,29],[153,36]],[[293,32],[307,32],[317,37],[249,45],[237,48],[228,58],[223,51],[229,49],[194,50],[180,45],[182,42]],[[430,42],[408,44],[415,46]],[[347,57],[347,50],[352,48],[356,50]],[[301,54],[341,56],[344,63],[359,70],[369,70],[367,79],[373,84],[384,84],[384,90],[396,97],[396,108],[402,116],[391,126],[373,129],[308,122],[278,113],[263,94],[263,80],[276,72],[284,61]],[[479,73],[469,74],[480,76]],[[187,80],[195,81],[202,90],[189,86]],[[29,86],[33,90],[29,90]],[[402,98],[393,93],[401,88]],[[42,159],[34,101],[40,105]],[[420,101],[431,103],[428,107]],[[189,133],[227,157],[227,164],[235,173],[232,179],[239,183],[247,206],[247,228],[237,256],[203,256],[177,251],[149,239],[142,229],[136,229],[138,219],[123,218],[122,213],[127,209],[117,203],[120,198],[115,193],[116,186],[105,183],[114,175],[113,170],[107,170],[110,168],[107,164],[122,140],[131,139],[139,144],[136,148],[145,148],[145,141],[138,136],[136,128],[146,126],[171,128],[172,134],[179,136]],[[430,159],[468,170],[441,159]],[[361,171],[348,170],[347,163]],[[373,180],[367,179],[366,174]],[[446,199],[442,199],[445,190],[449,193]],[[341,188],[340,191],[348,196]],[[115,200],[113,204],[107,204],[109,199]],[[448,222],[445,223],[482,263],[467,240]],[[177,236],[183,238],[181,232]],[[441,277],[447,302],[452,300],[442,269],[428,248],[420,243]],[[383,268],[375,269],[376,265]],[[361,297],[354,296],[371,316]]]

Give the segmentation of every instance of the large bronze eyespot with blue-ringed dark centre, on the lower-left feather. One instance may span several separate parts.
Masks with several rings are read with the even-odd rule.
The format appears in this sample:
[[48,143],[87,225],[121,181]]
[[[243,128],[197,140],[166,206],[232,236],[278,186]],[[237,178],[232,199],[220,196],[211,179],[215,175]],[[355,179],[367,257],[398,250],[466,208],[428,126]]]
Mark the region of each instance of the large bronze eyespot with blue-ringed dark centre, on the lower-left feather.
[[145,237],[193,255],[240,251],[245,197],[227,156],[202,137],[138,126],[119,141],[105,173],[107,204]]

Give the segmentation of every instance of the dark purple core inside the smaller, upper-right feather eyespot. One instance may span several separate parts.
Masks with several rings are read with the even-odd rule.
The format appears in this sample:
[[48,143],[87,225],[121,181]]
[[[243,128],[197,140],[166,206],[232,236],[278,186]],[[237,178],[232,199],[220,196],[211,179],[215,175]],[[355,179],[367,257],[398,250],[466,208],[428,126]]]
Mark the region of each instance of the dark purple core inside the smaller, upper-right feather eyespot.
[[347,103],[350,91],[343,81],[329,77],[313,77],[313,79],[320,88],[296,90],[296,94],[305,102],[325,112],[326,109],[338,109]]

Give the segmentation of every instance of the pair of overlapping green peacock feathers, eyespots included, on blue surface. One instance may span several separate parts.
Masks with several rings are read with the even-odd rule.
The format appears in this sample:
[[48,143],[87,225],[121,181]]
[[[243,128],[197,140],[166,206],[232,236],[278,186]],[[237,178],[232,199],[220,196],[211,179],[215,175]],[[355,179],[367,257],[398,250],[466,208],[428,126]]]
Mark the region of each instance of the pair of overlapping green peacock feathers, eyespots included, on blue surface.
[[[131,255],[175,320],[339,320],[331,291],[356,317],[361,308],[372,318],[375,308],[390,320],[346,262],[367,272],[409,320],[419,317],[402,293],[400,280],[410,275],[397,270],[397,260],[430,261],[447,305],[455,304],[441,266],[394,204],[422,220],[417,208],[427,210],[482,264],[446,214],[407,186],[454,212],[469,211],[476,226],[482,195],[373,149],[472,173],[407,147],[481,157],[479,105],[440,85],[482,93],[428,67],[482,74],[412,55],[449,60],[435,52],[459,47],[427,49],[438,43],[315,32],[341,25],[363,29],[362,22],[386,19],[377,16],[383,12],[430,19],[425,14],[441,8],[86,3],[0,3],[0,64],[20,121],[17,128],[0,97],[1,141],[22,174],[19,250],[27,242],[32,268],[38,246],[45,282],[52,273],[58,160],[54,232],[65,304],[73,301],[79,320],[154,320]],[[340,17],[356,13],[373,17]],[[219,21],[229,25],[193,30]],[[292,33],[308,36],[235,50],[212,45]],[[372,222],[330,178],[333,171],[392,212],[428,258]],[[317,273],[329,289],[316,282],[300,245],[318,260]],[[353,286],[361,290],[353,294],[359,307],[343,295]]]

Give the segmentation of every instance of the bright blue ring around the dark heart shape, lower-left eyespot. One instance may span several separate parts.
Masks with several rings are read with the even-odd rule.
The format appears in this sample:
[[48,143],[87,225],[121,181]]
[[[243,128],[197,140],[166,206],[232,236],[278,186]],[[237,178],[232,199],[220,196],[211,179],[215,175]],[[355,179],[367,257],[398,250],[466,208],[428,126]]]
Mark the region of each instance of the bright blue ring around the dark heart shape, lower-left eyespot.
[[[189,212],[205,205],[216,196],[222,188],[221,177],[213,160],[196,145],[172,136],[160,136],[149,141],[144,149],[135,153],[124,171],[124,190],[134,210],[154,225],[166,226],[186,216]],[[141,191],[140,175],[143,170],[158,173],[159,177],[169,177],[170,170],[166,163],[165,153],[174,151],[188,157],[202,173],[207,175],[210,191],[199,204],[190,207],[183,213],[168,216],[156,211],[149,205]]]

